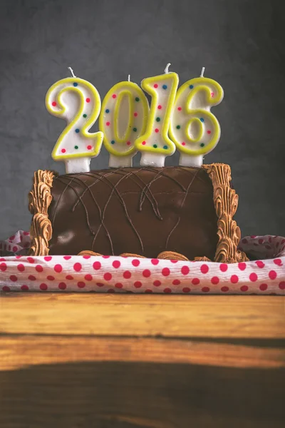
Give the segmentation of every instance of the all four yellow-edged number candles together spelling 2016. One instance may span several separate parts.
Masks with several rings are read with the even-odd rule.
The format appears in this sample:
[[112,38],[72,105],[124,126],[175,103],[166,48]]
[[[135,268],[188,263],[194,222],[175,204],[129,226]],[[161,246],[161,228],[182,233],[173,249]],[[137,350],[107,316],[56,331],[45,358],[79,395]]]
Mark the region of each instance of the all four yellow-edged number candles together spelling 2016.
[[[141,165],[162,167],[175,149],[180,151],[180,165],[201,166],[203,156],[219,142],[219,122],[210,109],[222,101],[222,86],[205,78],[203,68],[200,77],[177,91],[179,78],[169,66],[164,74],[141,83],[152,97],[150,106],[140,86],[128,79],[110,88],[102,108],[97,89],[71,69],[72,77],[54,83],[46,94],[49,113],[67,122],[53,159],[66,163],[66,173],[89,172],[91,158],[104,143],[113,168],[132,166],[138,151]],[[90,133],[99,114],[100,131]]]

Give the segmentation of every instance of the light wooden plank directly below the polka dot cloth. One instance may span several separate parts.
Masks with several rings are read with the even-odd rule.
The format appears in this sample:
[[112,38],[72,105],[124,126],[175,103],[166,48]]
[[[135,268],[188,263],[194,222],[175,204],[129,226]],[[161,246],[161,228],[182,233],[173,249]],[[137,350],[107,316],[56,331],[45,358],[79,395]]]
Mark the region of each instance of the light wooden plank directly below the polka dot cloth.
[[7,293],[0,332],[284,338],[282,296]]

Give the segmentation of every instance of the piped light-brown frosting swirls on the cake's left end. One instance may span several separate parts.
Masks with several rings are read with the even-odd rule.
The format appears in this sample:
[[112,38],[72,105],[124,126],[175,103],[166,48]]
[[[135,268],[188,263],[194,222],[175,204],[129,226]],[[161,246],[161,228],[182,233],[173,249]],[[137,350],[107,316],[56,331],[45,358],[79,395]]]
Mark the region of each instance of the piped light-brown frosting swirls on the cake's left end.
[[48,255],[48,241],[52,236],[48,207],[51,204],[51,187],[55,173],[38,170],[33,175],[33,189],[28,193],[28,209],[33,214],[31,223],[31,248],[29,255]]

